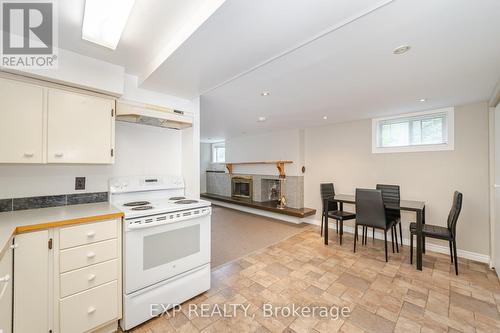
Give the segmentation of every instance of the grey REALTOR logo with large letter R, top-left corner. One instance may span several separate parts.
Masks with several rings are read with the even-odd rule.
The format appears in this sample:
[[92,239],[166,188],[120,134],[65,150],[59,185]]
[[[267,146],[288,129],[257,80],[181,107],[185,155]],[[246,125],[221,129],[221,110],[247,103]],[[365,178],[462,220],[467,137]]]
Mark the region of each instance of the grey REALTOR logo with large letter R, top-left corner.
[[55,68],[57,34],[53,1],[7,1],[2,6],[2,62],[9,68]]

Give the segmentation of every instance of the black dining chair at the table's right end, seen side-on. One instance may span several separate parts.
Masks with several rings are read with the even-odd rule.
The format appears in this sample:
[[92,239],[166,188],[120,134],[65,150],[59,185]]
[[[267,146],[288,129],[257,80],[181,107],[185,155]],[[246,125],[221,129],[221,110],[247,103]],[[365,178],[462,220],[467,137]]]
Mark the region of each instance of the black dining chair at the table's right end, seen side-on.
[[[438,225],[422,225],[422,236],[436,239],[447,240],[450,243],[451,262],[455,262],[455,274],[458,275],[458,257],[457,257],[457,221],[462,210],[462,193],[455,191],[453,193],[453,203],[446,227]],[[417,234],[417,224],[410,223],[410,263],[413,264],[413,236]]]

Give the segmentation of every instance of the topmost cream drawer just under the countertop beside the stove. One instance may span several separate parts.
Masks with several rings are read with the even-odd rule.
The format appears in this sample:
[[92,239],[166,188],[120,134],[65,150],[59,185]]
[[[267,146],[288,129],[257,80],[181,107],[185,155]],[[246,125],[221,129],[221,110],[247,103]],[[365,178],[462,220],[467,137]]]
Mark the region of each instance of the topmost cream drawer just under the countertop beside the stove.
[[59,234],[59,247],[61,249],[100,242],[117,237],[116,221],[87,223],[62,228]]

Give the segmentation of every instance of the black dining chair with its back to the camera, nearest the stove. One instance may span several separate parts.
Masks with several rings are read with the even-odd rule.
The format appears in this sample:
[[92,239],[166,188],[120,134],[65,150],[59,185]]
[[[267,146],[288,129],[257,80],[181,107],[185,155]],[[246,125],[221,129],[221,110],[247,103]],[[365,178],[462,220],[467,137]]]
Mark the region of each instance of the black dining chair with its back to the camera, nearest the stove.
[[[387,231],[392,229],[393,221],[387,218],[384,202],[382,200],[382,191],[373,189],[356,189],[354,252],[356,252],[358,225],[362,227],[382,229],[384,231],[385,261],[387,262]],[[394,243],[394,236],[392,241]]]

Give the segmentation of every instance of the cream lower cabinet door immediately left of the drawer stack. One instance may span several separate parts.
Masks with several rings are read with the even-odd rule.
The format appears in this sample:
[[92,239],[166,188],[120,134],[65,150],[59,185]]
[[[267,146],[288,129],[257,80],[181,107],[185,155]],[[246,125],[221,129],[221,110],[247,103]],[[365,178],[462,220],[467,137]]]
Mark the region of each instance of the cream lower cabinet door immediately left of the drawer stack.
[[14,333],[49,331],[48,230],[15,237]]

